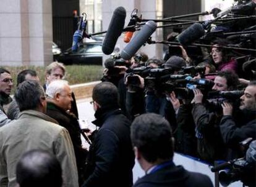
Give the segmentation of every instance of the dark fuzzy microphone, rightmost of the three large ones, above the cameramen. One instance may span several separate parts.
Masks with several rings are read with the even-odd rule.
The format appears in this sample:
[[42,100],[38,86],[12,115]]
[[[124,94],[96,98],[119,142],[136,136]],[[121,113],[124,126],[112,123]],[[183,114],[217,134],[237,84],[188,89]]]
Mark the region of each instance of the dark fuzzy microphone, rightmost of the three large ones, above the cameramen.
[[202,24],[194,23],[177,36],[177,41],[179,41],[182,46],[186,46],[201,38],[203,35],[205,35],[205,30]]

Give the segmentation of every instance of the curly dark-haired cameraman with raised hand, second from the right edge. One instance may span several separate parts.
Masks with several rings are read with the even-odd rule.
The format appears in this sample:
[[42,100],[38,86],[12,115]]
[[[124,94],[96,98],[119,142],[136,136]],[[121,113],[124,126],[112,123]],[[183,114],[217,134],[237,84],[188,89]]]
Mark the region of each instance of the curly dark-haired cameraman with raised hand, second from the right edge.
[[[220,71],[214,81],[213,90],[228,91],[234,90],[238,85],[238,76],[231,71]],[[221,138],[220,120],[223,116],[219,111],[209,111],[203,105],[203,94],[195,89],[194,108],[192,115],[195,121],[197,137],[197,151],[202,159],[214,161],[226,158],[226,148]]]

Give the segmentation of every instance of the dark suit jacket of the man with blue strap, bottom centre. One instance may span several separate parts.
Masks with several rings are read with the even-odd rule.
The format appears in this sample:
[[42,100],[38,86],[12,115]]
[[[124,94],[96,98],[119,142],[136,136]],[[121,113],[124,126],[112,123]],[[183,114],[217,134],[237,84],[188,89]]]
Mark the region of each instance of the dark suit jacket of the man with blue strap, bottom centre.
[[211,187],[210,178],[185,170],[181,165],[164,167],[136,181],[133,187]]

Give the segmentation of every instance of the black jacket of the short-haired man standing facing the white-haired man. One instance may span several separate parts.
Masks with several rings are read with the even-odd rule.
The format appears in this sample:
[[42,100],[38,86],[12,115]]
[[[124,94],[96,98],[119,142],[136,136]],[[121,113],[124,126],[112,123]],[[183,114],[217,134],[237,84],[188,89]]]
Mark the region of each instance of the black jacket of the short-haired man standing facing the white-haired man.
[[83,186],[132,186],[134,152],[130,121],[121,109],[100,108],[95,113],[100,129],[90,146]]

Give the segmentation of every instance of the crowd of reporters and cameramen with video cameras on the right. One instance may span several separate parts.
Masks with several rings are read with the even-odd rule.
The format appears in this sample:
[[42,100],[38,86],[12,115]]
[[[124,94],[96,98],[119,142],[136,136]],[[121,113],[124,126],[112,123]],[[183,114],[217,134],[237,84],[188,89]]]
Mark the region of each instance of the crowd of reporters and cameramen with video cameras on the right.
[[[255,33],[216,33],[252,30],[251,21],[211,25],[200,38],[211,47],[169,45],[164,60],[142,52],[130,60],[114,55],[105,62],[102,80],[118,87],[121,108],[130,119],[142,113],[166,117],[177,152],[208,162],[242,157],[239,142],[256,138],[255,52],[232,46],[255,49]],[[168,41],[179,34],[169,34]]]

